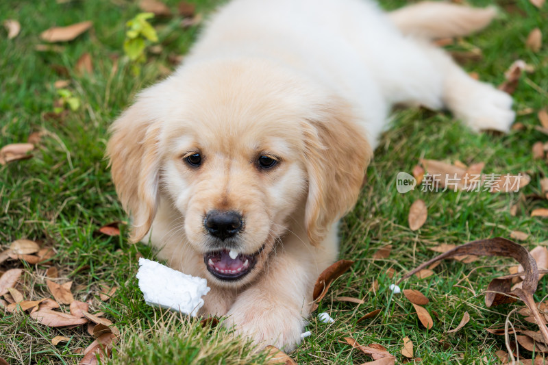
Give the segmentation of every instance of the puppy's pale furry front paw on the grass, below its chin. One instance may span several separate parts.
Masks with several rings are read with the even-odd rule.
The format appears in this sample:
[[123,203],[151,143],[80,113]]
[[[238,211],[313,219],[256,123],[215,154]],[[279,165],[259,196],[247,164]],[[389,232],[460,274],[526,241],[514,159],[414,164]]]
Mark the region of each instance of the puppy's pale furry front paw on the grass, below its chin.
[[260,347],[272,345],[289,352],[301,343],[301,308],[262,299],[238,300],[227,316],[227,327],[234,325],[236,334],[251,338]]

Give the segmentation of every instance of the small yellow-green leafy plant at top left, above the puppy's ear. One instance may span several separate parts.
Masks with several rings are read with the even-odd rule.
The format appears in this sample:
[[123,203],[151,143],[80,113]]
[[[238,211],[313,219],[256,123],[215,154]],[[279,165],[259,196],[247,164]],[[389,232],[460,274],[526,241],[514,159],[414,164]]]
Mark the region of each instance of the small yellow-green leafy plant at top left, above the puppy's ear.
[[127,31],[125,32],[124,52],[132,61],[132,71],[135,75],[140,74],[141,66],[147,60],[145,55],[147,40],[152,43],[158,42],[158,34],[147,21],[153,17],[153,13],[139,13],[125,24]]

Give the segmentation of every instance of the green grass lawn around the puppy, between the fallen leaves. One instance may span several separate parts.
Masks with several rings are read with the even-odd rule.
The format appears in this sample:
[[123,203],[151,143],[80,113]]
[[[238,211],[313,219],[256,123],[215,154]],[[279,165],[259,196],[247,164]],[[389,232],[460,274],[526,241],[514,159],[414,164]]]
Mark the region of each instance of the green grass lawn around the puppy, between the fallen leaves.
[[[90,312],[104,312],[119,327],[121,338],[112,354],[113,364],[264,364],[263,353],[254,353],[250,344],[221,327],[202,329],[198,320],[145,305],[135,279],[137,260],[140,255],[153,258],[154,253],[144,244],[129,244],[125,229],[114,237],[95,233],[105,223],[127,220],[103,157],[110,123],[138,90],[173,69],[174,56],[188,51],[199,26],[183,29],[179,16],[153,19],[163,50],[147,53],[147,63],[135,76],[123,57],[123,41],[125,22],[140,12],[137,1],[58,2],[0,1],[0,21],[12,18],[21,23],[21,34],[11,40],[0,29],[0,147],[26,142],[34,131],[44,132],[33,158],[0,166],[0,252],[18,238],[36,240],[55,251],[45,264],[5,261],[0,273],[24,268],[17,288],[25,299],[40,299],[51,296],[45,284],[46,270],[52,265],[58,268],[60,279],[56,281],[72,280],[75,299],[88,301]],[[176,13],[178,1],[166,3]],[[208,14],[216,1],[195,3],[197,12]],[[404,3],[384,0],[382,6],[393,9]],[[490,4],[484,0],[471,3]],[[435,253],[428,248],[437,244],[509,237],[510,231],[519,230],[529,234],[521,242],[528,248],[548,245],[548,218],[530,217],[532,210],[548,208],[548,201],[537,197],[540,179],[548,177],[547,160],[534,160],[531,152],[534,142],[548,140],[535,129],[540,125],[536,112],[548,102],[548,47],[536,53],[525,47],[535,27],[548,38],[548,5],[543,10],[527,0],[503,0],[495,5],[501,14],[493,25],[447,48],[481,49],[482,58],[465,62],[464,68],[493,84],[503,81],[504,71],[515,60],[534,66],[534,72],[524,75],[514,92],[517,122],[523,123],[523,129],[506,136],[474,134],[447,113],[418,108],[395,112],[393,127],[384,134],[367,171],[360,201],[341,224],[340,258],[356,264],[334,283],[318,310],[329,312],[336,321],[328,325],[310,319],[307,329],[312,336],[290,353],[297,363],[371,361],[340,343],[344,337],[356,338],[360,344],[382,344],[402,362],[400,350],[406,336],[424,364],[499,363],[495,352],[506,349],[504,337],[486,328],[503,327],[508,313],[518,305],[487,308],[484,290],[490,279],[508,273],[506,266],[514,264],[511,260],[481,258],[469,264],[446,260],[434,269],[434,275],[404,281],[402,289],[414,288],[429,297],[425,307],[434,317],[429,330],[419,324],[411,303],[388,289],[397,277],[433,257]],[[39,34],[45,29],[87,20],[93,21],[92,29],[75,40],[58,43],[48,51],[36,50],[44,44]],[[93,69],[81,74],[75,65],[86,52]],[[70,81],[65,88],[81,105],[62,119],[52,118],[59,99],[54,83],[61,79]],[[521,172],[532,179],[512,194],[420,189],[399,194],[397,173],[410,173],[420,158],[485,162],[485,173]],[[425,201],[428,218],[419,231],[411,231],[408,212],[416,199]],[[514,204],[519,209],[512,216]],[[393,245],[390,256],[373,260],[373,253],[386,244]],[[393,278],[388,277],[390,268],[395,270]],[[371,291],[374,280],[379,284],[375,292]],[[118,287],[109,301],[99,299],[101,284]],[[547,294],[546,279],[541,279],[536,300]],[[362,298],[364,303],[336,300],[343,296]],[[356,323],[375,309],[382,312]],[[469,312],[470,322],[457,333],[447,333],[464,312]],[[510,320],[536,330],[516,314]],[[55,336],[70,341],[53,346]],[[85,325],[50,328],[27,314],[0,309],[0,357],[9,364],[74,364],[92,340]],[[534,357],[528,351],[521,351],[521,356]]]

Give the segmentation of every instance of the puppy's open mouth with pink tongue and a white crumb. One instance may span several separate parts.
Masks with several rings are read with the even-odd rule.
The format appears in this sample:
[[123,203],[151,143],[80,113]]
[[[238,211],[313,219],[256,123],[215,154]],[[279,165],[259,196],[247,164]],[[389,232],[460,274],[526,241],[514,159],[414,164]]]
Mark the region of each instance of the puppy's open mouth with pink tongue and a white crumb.
[[237,253],[234,250],[223,249],[203,254],[203,262],[206,263],[208,271],[217,279],[237,280],[249,273],[257,263],[257,255],[264,248],[251,255]]

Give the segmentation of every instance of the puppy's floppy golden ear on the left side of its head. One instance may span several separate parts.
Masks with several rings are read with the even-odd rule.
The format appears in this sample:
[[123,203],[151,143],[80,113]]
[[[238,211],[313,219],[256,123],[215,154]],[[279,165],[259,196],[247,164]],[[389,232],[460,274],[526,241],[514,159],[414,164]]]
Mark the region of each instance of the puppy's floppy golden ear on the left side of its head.
[[124,210],[132,216],[132,242],[150,230],[158,208],[160,127],[147,117],[143,101],[137,101],[110,127],[107,145],[112,180]]

